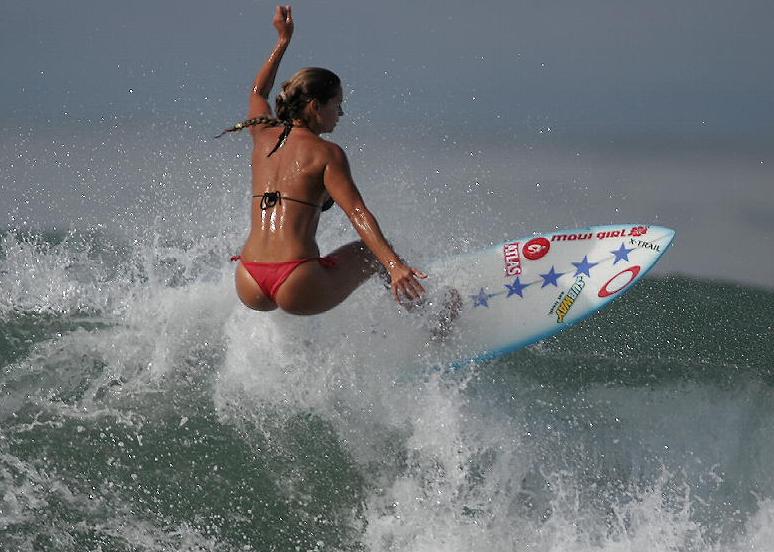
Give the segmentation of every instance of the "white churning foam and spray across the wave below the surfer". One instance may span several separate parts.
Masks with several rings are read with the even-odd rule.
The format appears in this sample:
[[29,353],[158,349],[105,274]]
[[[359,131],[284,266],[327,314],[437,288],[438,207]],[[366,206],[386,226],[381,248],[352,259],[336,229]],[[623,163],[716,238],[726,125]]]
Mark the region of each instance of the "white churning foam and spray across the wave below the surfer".
[[[453,233],[459,221],[444,224],[433,230]],[[342,227],[323,233],[324,249],[348,239]],[[467,237],[479,243],[485,230]],[[54,413],[40,423],[105,416],[140,435],[177,407],[155,397],[179,390],[183,402],[214,404],[245,439],[258,432],[281,448],[284,421],[316,416],[364,478],[361,538],[374,552],[774,548],[774,405],[757,381],[562,387],[556,356],[539,376],[497,363],[439,371],[407,346],[421,317],[377,282],[324,316],[254,313],[234,297],[226,261],[239,240],[182,234],[189,241],[135,232],[108,263],[106,249],[74,238],[5,236],[0,314],[100,327],[54,333],[5,366],[3,420],[32,403]],[[88,511],[88,497],[0,451],[0,476],[14,481],[2,493],[6,527],[34,522],[52,489]],[[170,530],[128,513],[94,528],[148,550],[227,549],[193,525]]]

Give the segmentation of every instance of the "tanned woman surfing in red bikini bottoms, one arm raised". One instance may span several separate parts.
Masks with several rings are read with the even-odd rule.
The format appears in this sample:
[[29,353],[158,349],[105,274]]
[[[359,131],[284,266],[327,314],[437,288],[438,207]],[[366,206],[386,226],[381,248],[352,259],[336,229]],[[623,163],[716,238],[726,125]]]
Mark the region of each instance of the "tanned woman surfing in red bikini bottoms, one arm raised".
[[[268,97],[293,35],[290,6],[277,6],[273,23],[279,39],[255,79],[248,119],[224,131],[249,128],[253,136],[252,223],[234,258],[241,259],[239,298],[255,310],[318,314],[383,266],[396,300],[420,299],[417,279],[427,276],[395,253],[355,186],[344,151],[320,138],[343,115],[339,78],[327,69],[301,69],[282,85],[273,115]],[[361,239],[320,257],[317,224],[334,202]]]

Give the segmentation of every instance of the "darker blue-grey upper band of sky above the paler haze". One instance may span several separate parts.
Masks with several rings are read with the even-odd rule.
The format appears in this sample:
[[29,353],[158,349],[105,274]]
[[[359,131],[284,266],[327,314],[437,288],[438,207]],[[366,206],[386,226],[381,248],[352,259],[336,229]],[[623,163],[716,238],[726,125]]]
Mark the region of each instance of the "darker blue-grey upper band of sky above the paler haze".
[[[273,45],[273,3],[0,1],[0,124],[219,126]],[[370,122],[768,134],[770,0],[301,1],[279,79],[341,74]]]

